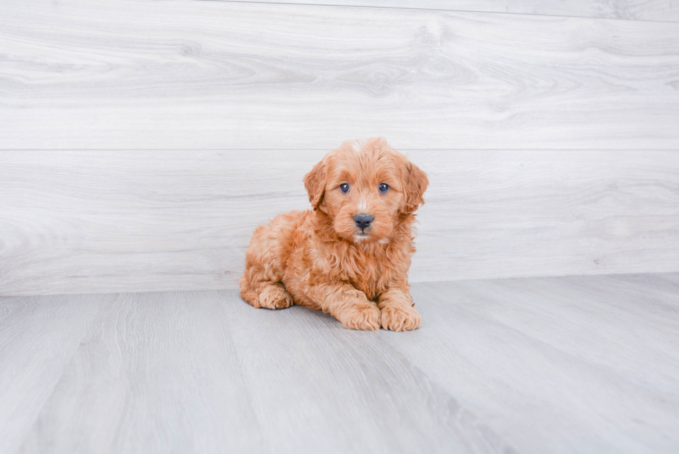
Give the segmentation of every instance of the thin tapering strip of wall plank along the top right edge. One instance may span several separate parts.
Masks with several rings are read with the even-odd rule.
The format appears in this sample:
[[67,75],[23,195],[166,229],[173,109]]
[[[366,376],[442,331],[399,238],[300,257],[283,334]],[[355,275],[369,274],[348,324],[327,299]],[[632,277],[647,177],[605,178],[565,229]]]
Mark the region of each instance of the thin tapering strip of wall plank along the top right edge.
[[[251,0],[216,0],[251,1]],[[509,12],[513,14],[601,17],[679,22],[679,6],[669,0],[252,0],[255,3],[369,6],[423,10]]]

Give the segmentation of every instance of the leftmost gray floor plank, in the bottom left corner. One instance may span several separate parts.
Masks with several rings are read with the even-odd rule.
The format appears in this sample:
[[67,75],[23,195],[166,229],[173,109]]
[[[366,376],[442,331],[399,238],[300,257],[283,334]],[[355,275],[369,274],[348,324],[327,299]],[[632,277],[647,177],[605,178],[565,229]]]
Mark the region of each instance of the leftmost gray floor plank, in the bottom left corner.
[[15,453],[107,295],[0,298],[0,452]]

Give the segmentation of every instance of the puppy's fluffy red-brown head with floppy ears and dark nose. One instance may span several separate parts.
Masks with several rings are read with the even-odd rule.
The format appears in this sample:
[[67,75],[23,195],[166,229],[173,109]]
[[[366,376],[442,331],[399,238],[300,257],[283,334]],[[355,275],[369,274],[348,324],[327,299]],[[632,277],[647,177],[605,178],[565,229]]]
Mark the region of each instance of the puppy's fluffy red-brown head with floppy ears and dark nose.
[[305,175],[313,209],[352,243],[387,240],[424,203],[429,180],[384,139],[346,141]]

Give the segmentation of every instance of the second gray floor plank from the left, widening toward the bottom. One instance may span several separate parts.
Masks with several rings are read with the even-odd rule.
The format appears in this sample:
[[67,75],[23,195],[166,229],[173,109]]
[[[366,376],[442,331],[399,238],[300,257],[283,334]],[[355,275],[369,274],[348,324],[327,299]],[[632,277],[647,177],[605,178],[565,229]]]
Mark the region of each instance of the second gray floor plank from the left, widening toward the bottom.
[[224,298],[204,295],[109,302],[19,452],[266,452]]

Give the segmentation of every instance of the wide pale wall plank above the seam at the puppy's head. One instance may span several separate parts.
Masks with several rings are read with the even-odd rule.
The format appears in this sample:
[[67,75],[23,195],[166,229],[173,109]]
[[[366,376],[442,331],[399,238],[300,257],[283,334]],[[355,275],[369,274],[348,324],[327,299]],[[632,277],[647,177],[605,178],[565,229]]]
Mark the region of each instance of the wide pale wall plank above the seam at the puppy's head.
[[2,149],[679,148],[679,24],[3,1]]

